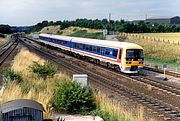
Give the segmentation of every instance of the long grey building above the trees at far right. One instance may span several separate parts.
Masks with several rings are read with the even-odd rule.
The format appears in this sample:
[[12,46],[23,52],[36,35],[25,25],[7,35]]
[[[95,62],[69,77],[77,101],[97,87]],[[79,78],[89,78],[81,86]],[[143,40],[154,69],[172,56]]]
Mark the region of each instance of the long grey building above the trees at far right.
[[160,18],[148,18],[145,20],[149,23],[157,23],[157,24],[180,24],[180,17],[160,17]]

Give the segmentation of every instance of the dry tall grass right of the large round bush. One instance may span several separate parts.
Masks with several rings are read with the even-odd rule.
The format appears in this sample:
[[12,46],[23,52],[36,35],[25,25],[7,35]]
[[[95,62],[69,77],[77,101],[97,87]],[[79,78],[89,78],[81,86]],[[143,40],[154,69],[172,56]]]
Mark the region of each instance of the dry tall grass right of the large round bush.
[[[95,100],[103,112],[109,115],[108,121],[143,121],[144,120],[144,108],[138,107],[135,112],[133,110],[125,110],[118,101],[113,101],[107,98],[106,95],[98,92],[95,95]],[[107,120],[107,119],[106,119]],[[152,120],[152,119],[149,119]]]

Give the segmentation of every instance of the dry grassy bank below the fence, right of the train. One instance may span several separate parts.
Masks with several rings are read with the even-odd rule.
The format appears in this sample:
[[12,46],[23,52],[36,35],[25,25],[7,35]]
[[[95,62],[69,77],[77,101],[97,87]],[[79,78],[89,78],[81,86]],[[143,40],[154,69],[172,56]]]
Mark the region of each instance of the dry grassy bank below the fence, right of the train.
[[145,61],[162,67],[168,64],[171,68],[180,70],[180,45],[152,40],[145,37],[127,36],[127,42],[133,42],[144,48]]

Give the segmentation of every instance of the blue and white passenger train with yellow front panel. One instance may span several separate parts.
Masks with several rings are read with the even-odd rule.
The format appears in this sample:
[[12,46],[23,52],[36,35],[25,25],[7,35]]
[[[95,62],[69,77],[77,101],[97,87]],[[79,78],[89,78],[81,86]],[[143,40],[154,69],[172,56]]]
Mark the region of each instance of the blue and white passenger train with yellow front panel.
[[123,73],[138,73],[144,66],[143,48],[135,43],[52,34],[39,34],[36,41]]

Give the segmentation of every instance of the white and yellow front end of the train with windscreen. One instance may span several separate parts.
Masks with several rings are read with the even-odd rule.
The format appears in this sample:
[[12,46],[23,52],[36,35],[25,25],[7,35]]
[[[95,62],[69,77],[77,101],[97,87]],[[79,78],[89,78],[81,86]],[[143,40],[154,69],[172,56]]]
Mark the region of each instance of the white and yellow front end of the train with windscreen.
[[122,72],[138,73],[139,68],[144,66],[143,48],[139,45],[125,48],[122,60]]

